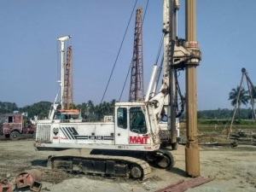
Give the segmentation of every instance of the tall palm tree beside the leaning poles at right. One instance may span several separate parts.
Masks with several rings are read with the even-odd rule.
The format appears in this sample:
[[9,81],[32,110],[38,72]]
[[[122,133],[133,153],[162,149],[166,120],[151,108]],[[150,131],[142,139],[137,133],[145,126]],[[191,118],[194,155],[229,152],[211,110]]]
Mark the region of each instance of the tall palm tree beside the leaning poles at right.
[[[238,115],[240,118],[240,107],[241,104],[247,106],[248,100],[250,96],[248,96],[248,90],[245,90],[243,87],[241,87],[240,94],[239,94],[240,87],[237,86],[236,89],[233,88],[230,91],[230,97],[229,100],[231,100],[231,105],[236,108],[236,101],[238,105]],[[238,96],[239,95],[239,96]]]

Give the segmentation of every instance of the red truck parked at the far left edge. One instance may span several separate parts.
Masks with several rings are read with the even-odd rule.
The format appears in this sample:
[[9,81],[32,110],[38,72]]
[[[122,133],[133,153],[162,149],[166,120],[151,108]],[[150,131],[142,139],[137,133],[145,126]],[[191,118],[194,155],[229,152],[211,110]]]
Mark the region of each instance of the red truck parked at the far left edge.
[[36,126],[22,113],[4,113],[0,117],[0,135],[11,140],[20,139],[21,134],[35,134]]

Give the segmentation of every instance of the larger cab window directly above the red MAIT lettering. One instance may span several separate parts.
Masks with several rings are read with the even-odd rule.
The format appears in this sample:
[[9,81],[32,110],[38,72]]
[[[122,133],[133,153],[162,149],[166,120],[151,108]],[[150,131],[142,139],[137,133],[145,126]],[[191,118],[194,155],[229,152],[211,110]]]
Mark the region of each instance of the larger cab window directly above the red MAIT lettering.
[[145,116],[141,108],[130,108],[130,130],[139,134],[147,133]]

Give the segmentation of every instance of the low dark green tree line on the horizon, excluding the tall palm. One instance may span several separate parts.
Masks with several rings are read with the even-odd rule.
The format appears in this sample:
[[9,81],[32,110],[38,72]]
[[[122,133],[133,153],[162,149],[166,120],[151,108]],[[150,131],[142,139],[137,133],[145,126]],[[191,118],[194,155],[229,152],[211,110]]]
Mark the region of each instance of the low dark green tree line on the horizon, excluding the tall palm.
[[[115,100],[111,102],[102,102],[95,105],[92,101],[83,102],[82,104],[74,105],[73,108],[79,109],[83,119],[87,121],[98,121],[103,119],[104,115],[113,115]],[[25,113],[27,118],[45,119],[49,115],[51,102],[37,102],[28,105],[24,108],[19,108],[15,102],[0,102],[0,113]],[[198,119],[231,119],[234,110],[228,108],[218,108],[213,110],[199,110],[197,112]],[[181,116],[185,119],[185,114]],[[252,108],[240,108],[240,113],[236,113],[235,119],[253,119]]]

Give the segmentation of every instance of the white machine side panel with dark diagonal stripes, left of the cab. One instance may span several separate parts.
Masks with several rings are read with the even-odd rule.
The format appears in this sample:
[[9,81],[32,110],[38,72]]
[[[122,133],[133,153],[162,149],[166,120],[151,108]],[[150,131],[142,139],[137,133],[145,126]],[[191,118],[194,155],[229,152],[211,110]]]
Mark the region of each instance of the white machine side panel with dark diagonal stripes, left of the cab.
[[[70,144],[114,144],[113,123],[56,123],[38,125],[38,141]],[[38,133],[39,133],[38,132]],[[44,134],[43,134],[44,133]]]

